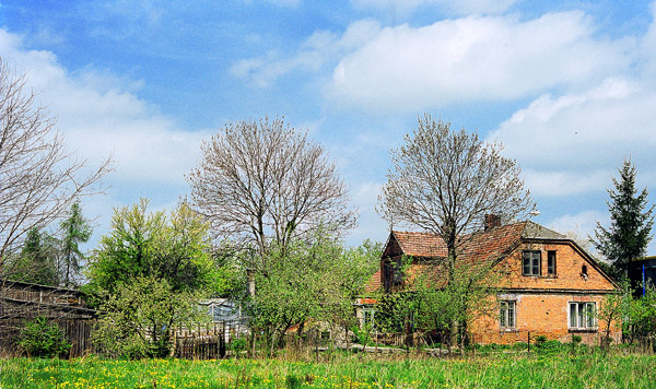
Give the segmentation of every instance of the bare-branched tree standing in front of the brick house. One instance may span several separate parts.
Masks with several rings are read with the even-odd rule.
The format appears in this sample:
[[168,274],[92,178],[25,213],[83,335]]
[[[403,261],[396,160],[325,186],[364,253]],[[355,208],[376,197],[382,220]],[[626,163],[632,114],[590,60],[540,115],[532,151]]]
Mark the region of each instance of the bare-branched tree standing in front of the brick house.
[[[516,162],[501,155],[501,143],[483,142],[464,129],[454,131],[450,123],[429,115],[418,121],[406,143],[391,150],[394,169],[387,174],[379,212],[390,224],[442,237],[448,254],[441,267],[447,272],[447,285],[457,288],[456,283],[472,284],[478,274],[456,276],[457,257],[467,237],[483,229],[488,215],[522,219],[535,205]],[[455,322],[452,335],[457,327]]]

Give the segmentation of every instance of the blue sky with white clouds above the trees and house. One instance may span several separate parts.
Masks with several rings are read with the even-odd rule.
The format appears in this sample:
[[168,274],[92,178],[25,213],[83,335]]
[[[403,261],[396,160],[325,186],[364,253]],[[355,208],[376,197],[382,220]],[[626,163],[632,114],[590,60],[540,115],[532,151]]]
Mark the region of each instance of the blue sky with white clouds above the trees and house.
[[10,0],[0,57],[69,150],[115,161],[83,203],[91,245],[117,207],[175,208],[201,142],[265,116],[336,161],[360,214],[347,244],[385,241],[389,150],[424,113],[502,142],[534,221],[585,237],[609,226],[624,158],[656,202],[655,14],[641,0]]

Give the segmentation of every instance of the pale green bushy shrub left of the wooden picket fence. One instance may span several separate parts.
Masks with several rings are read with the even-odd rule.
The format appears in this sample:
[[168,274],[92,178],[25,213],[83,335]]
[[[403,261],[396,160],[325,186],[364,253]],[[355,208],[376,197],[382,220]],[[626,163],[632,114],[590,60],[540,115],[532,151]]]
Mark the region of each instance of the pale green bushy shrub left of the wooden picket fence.
[[175,291],[166,280],[136,278],[121,284],[101,306],[95,341],[110,354],[129,358],[166,357],[172,331],[208,320],[200,296]]

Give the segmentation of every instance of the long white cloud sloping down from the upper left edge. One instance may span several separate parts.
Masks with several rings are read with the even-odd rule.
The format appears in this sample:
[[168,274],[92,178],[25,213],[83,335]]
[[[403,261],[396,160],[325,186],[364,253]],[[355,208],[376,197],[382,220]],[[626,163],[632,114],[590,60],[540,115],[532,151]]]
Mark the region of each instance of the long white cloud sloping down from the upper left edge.
[[0,30],[0,56],[57,118],[67,144],[91,164],[114,154],[112,180],[184,185],[208,133],[185,132],[129,92],[133,82],[85,69],[68,72],[49,51],[25,50],[21,39]]

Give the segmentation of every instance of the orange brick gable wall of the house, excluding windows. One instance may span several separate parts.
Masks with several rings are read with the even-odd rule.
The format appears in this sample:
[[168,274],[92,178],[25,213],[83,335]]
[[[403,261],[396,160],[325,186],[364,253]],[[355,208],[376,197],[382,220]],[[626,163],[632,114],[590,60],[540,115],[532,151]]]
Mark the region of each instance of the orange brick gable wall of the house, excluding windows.
[[[541,254],[540,275],[523,275],[523,250],[537,250]],[[548,274],[547,252],[555,251],[555,274]],[[585,268],[584,268],[585,267]],[[585,274],[582,271],[585,269]],[[535,338],[544,335],[561,342],[571,342],[572,335],[581,335],[583,342],[598,344],[606,323],[597,321],[596,330],[570,329],[570,303],[595,303],[597,311],[604,306],[609,293],[616,286],[597,267],[573,244],[567,241],[524,243],[497,266],[503,270],[500,278],[502,292],[490,298],[490,306],[499,306],[501,300],[515,302],[516,323],[512,330],[502,329],[499,309],[480,315],[470,323],[470,333],[476,343],[509,344],[526,342],[528,333]],[[611,338],[619,341],[619,323],[611,323]]]

